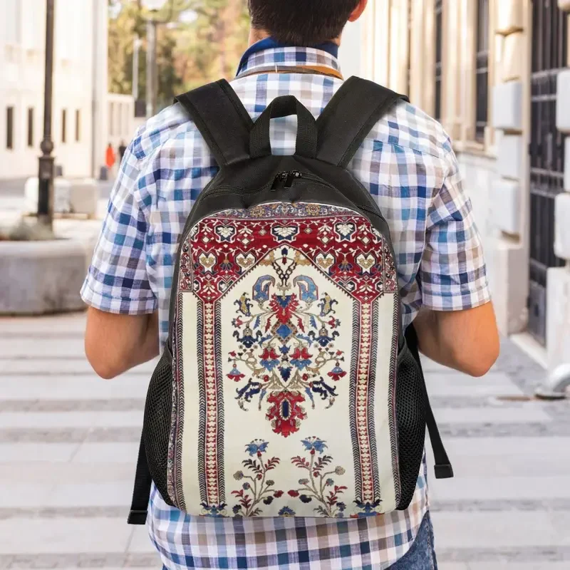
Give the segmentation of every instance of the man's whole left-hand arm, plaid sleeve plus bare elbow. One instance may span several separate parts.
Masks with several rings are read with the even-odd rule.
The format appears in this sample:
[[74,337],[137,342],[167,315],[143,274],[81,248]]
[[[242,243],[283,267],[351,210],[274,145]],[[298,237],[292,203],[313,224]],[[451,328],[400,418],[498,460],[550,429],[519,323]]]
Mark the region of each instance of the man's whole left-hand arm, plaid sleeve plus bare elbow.
[[[146,266],[144,132],[130,143],[110,195],[93,261],[81,296],[89,305],[85,336],[88,361],[102,378],[149,361],[159,350],[157,299]],[[146,200],[149,202],[149,200]]]

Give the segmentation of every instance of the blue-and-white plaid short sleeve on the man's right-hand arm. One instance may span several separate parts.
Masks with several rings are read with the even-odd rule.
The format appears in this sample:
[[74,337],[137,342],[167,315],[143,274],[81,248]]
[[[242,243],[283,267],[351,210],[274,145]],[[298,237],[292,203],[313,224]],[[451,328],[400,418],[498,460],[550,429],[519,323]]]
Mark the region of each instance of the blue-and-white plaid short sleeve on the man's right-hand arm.
[[420,286],[423,306],[460,311],[487,303],[491,294],[480,234],[451,147],[445,167],[445,180],[427,212]]

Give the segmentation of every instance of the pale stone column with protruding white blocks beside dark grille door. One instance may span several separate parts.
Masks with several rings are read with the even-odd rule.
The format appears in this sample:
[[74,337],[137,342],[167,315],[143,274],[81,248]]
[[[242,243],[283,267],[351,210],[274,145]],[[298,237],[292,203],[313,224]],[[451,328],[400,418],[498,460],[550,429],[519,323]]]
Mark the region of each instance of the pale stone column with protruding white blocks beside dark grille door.
[[500,50],[492,90],[491,124],[497,130],[497,173],[492,188],[492,214],[498,229],[493,283],[497,322],[502,333],[527,325],[530,0],[500,0],[496,10]]

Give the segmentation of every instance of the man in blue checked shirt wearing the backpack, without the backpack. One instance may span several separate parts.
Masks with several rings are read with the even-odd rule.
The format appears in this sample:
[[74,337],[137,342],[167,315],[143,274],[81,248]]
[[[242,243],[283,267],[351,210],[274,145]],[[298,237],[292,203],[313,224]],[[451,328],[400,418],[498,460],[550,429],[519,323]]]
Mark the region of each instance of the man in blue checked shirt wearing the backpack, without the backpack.
[[[251,46],[232,86],[252,118],[279,95],[315,116],[341,86],[336,54],[366,0],[249,0]],[[313,46],[313,47],[306,47]],[[294,152],[296,128],[274,125],[274,154]],[[480,376],[499,341],[480,239],[441,126],[400,103],[373,128],[349,165],[388,220],[398,259],[403,324],[433,360]],[[177,239],[217,165],[195,125],[174,105],[131,142],[93,265],[86,353],[113,378],[159,353]],[[150,536],[167,569],[435,569],[425,462],[410,507],[363,519],[190,517],[152,489]]]

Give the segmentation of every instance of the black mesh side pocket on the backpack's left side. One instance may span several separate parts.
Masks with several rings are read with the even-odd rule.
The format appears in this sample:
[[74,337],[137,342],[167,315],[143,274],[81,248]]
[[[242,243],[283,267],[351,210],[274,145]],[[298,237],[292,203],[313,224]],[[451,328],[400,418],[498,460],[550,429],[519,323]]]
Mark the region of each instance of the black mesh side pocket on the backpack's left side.
[[172,353],[168,346],[152,373],[145,405],[142,437],[145,441],[148,468],[152,480],[165,502],[168,497],[167,459],[170,425],[172,423]]

